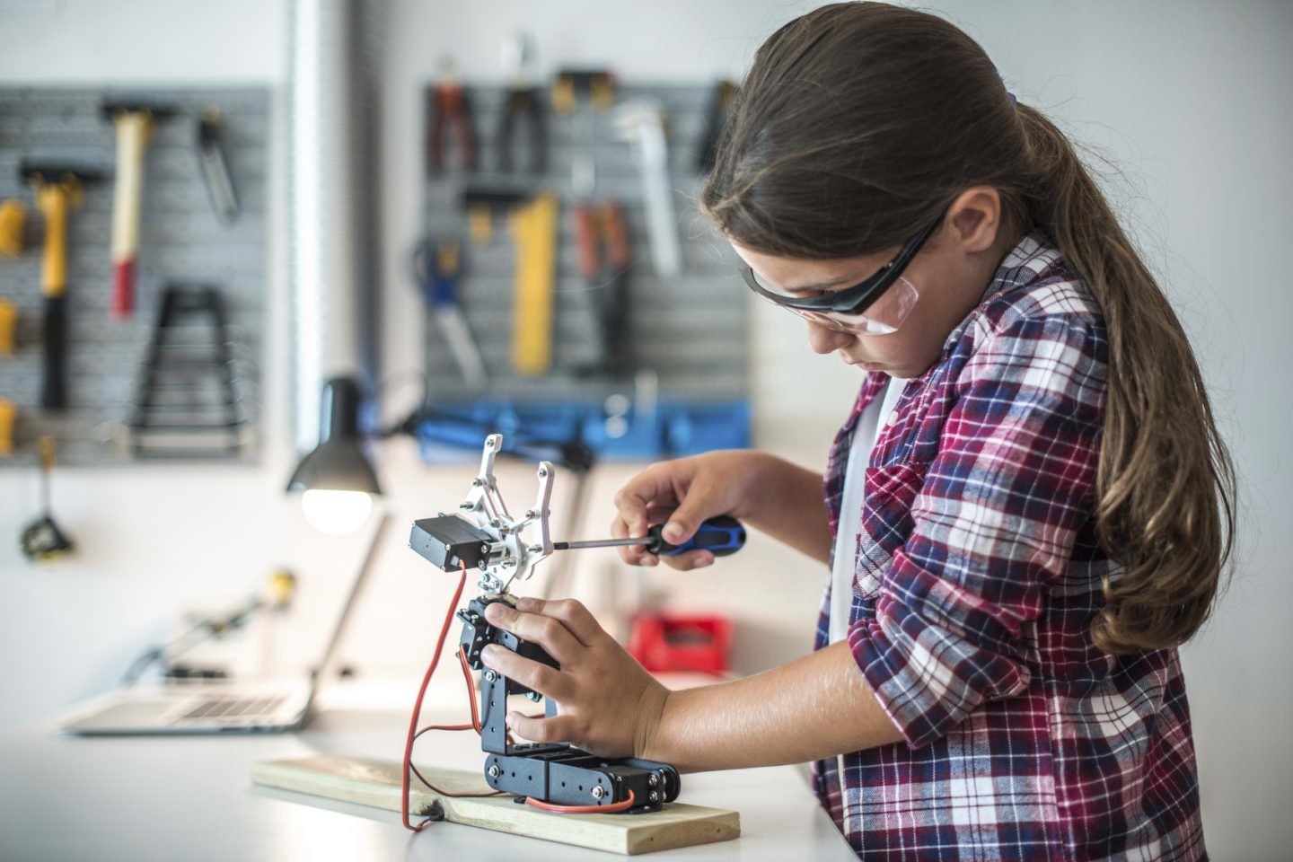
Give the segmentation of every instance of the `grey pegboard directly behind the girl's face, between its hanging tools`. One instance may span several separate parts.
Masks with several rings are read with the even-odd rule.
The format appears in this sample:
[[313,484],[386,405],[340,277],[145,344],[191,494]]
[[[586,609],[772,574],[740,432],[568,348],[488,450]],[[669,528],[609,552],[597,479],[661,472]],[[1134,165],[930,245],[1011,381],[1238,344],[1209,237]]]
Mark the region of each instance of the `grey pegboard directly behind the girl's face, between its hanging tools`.
[[[587,97],[581,97],[569,114],[553,111],[550,90],[540,88],[547,169],[539,176],[529,171],[531,154],[524,121],[517,121],[512,132],[513,169],[499,169],[498,129],[507,89],[465,85],[464,90],[476,131],[477,167],[464,169],[446,143],[445,167],[434,171],[428,165],[423,142],[424,224],[428,235],[459,237],[465,243],[465,273],[458,300],[482,354],[489,383],[484,388],[465,384],[441,328],[428,313],[425,370],[432,402],[460,403],[473,398],[596,402],[617,393],[631,394],[626,380],[572,371],[595,352],[597,326],[595,297],[579,273],[572,217],[577,191],[572,160],[592,155],[592,199],[613,198],[626,215],[632,260],[627,273],[628,332],[637,366],[656,372],[662,399],[743,403],[749,398],[749,291],[737,274],[736,255],[697,207],[703,184],[697,162],[714,98],[712,84],[619,84],[613,107],[592,110]],[[428,114],[432,92],[428,87],[423,101]],[[615,110],[640,100],[659,103],[666,115],[670,185],[683,256],[681,273],[671,278],[662,278],[654,270],[637,152],[615,131]],[[494,220],[487,243],[469,242],[468,217],[460,205],[467,187],[548,191],[561,202],[550,373],[520,376],[512,371],[513,242],[500,218]],[[405,280],[409,289],[416,289],[411,266]]]

